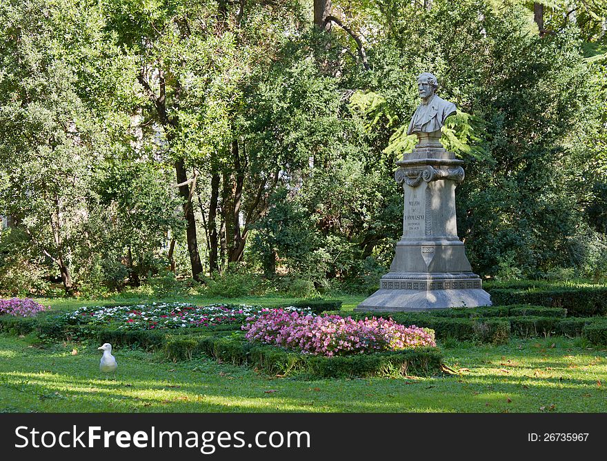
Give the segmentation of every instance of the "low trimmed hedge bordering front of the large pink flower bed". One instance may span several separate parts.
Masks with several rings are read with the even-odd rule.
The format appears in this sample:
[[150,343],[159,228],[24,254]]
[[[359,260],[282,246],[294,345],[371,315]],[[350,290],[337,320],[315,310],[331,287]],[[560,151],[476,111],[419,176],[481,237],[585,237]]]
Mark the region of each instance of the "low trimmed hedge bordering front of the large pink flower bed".
[[215,359],[256,367],[270,375],[304,373],[314,378],[428,376],[440,371],[441,351],[435,347],[355,356],[311,356],[280,347],[256,345],[243,334],[201,338],[201,349]]

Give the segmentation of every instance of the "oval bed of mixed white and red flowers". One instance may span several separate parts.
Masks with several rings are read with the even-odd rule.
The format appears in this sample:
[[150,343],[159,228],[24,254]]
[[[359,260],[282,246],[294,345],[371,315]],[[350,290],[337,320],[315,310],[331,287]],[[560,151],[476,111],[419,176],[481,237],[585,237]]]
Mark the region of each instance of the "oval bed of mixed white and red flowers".
[[241,324],[247,318],[255,318],[266,311],[266,308],[248,305],[214,304],[200,307],[189,303],[152,303],[81,307],[66,316],[77,324],[108,325],[117,329],[174,329]]

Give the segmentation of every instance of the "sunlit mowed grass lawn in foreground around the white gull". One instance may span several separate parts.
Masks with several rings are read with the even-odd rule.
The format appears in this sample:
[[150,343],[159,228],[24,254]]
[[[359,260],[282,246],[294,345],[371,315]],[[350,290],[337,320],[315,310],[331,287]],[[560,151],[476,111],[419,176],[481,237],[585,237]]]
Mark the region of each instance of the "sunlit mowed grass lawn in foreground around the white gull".
[[447,365],[459,373],[305,380],[263,376],[208,358],[172,363],[117,348],[113,380],[99,372],[98,345],[37,345],[30,336],[0,335],[0,411],[607,411],[607,351],[588,349],[582,340],[442,346]]

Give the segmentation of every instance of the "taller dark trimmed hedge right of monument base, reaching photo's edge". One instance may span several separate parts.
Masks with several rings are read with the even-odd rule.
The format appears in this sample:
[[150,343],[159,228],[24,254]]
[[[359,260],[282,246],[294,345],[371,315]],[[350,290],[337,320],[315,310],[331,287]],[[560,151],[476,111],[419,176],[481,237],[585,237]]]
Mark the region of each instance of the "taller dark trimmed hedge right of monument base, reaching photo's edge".
[[607,287],[541,287],[530,289],[494,288],[495,305],[533,304],[567,309],[568,316],[590,317],[607,314]]

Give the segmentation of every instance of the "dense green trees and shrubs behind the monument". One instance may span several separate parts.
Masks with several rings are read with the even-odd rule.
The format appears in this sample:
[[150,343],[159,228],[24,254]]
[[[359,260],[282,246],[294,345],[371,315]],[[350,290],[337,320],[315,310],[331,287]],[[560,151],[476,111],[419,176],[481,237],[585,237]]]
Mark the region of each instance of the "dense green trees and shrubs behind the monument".
[[605,4],[544,3],[3,2],[2,294],[373,291],[423,71],[475,271],[600,281]]

